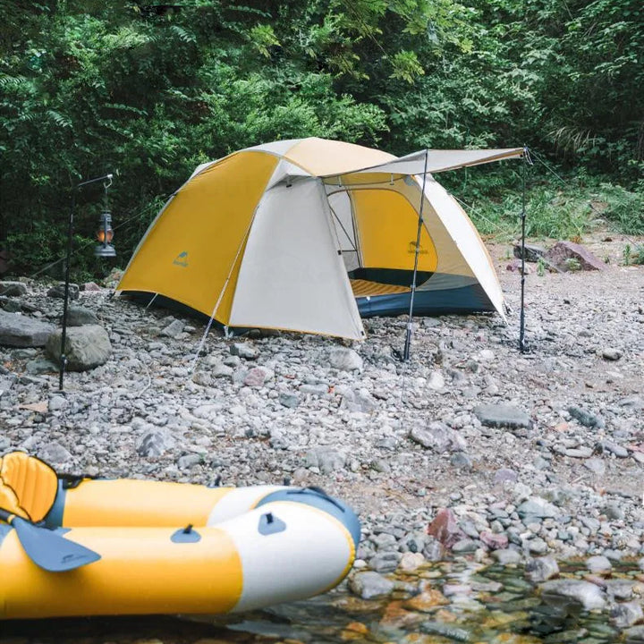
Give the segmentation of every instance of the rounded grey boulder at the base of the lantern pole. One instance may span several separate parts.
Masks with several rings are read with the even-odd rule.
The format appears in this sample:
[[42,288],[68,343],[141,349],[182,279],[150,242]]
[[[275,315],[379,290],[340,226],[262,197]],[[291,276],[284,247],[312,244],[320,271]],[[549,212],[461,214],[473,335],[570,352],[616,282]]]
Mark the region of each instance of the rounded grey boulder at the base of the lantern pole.
[[[61,329],[47,339],[47,355],[60,361]],[[68,371],[87,371],[105,364],[112,353],[112,344],[106,330],[98,325],[71,326],[65,338],[65,356]]]

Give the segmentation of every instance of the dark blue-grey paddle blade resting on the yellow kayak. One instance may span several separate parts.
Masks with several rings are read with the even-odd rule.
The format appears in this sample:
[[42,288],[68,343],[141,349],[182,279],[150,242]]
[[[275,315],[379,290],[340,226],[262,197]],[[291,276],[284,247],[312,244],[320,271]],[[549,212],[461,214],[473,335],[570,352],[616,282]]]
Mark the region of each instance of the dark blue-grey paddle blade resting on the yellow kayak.
[[100,559],[93,550],[69,541],[53,530],[39,528],[17,516],[10,523],[31,561],[43,570],[64,572]]

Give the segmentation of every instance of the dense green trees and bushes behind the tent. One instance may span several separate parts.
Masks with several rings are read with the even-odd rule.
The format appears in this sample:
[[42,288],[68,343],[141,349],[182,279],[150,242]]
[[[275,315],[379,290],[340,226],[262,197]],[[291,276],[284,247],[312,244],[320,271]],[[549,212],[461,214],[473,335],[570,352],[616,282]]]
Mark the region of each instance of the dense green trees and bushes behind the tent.
[[[644,231],[640,0],[0,0],[0,14],[0,240],[16,270],[64,252],[82,179],[119,173],[125,263],[195,165],[306,136],[394,154],[525,141],[581,177],[532,187],[530,235],[581,235],[593,201],[619,230]],[[482,232],[516,235],[515,168],[445,182]],[[89,237],[101,188],[78,196]]]

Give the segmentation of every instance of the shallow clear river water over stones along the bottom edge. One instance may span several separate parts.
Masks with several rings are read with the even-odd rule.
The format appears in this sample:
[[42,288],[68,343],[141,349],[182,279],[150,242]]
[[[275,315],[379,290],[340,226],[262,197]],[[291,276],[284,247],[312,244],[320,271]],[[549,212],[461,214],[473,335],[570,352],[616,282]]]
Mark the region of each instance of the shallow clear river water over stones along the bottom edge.
[[[581,564],[563,577],[589,579]],[[0,623],[3,644],[611,644],[644,642],[644,625],[621,630],[615,602],[644,601],[644,573],[617,564],[606,578],[606,608],[550,603],[521,568],[441,562],[395,578],[393,594],[364,600],[343,584],[321,597],[224,618],[96,617]],[[615,590],[611,594],[610,588]],[[421,591],[419,593],[419,590]],[[615,595],[616,593],[616,595]],[[73,600],[72,598],[70,599]],[[623,624],[619,624],[623,626]]]

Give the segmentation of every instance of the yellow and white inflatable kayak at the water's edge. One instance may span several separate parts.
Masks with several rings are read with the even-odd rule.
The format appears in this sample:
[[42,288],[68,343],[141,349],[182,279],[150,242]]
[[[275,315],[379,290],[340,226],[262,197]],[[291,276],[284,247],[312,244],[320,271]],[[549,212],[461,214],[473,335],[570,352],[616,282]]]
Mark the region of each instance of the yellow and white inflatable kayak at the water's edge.
[[223,614],[312,597],[349,572],[360,539],[352,510],[317,488],[71,479],[23,453],[0,459],[0,508],[5,619]]

